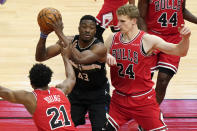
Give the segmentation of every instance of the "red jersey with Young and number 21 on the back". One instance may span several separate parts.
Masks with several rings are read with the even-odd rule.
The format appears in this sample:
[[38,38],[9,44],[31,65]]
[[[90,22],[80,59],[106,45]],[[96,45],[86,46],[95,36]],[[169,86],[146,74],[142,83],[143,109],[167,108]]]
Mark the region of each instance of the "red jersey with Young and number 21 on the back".
[[39,131],[76,131],[70,115],[70,102],[62,91],[51,87],[49,90],[33,91],[37,107],[33,120]]

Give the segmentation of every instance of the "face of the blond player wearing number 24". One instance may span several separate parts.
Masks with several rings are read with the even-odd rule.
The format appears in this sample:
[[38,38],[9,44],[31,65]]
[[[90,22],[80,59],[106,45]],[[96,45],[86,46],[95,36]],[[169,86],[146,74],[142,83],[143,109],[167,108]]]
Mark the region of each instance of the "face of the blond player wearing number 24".
[[121,33],[128,33],[133,29],[133,19],[130,19],[126,15],[118,15],[118,26],[120,28]]

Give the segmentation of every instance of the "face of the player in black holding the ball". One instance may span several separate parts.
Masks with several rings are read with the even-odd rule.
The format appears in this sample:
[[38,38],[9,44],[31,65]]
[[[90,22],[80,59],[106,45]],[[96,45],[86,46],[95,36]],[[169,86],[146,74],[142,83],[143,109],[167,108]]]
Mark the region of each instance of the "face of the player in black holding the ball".
[[79,35],[83,41],[91,41],[96,34],[96,23],[92,20],[82,20],[79,25]]

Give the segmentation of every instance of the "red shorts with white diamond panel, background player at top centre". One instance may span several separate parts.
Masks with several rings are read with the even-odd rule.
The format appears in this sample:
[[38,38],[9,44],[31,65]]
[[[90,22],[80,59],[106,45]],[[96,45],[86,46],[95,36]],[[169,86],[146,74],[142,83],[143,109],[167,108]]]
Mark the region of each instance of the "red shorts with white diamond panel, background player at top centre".
[[99,14],[96,16],[97,22],[100,26],[106,29],[108,26],[113,26],[114,30],[119,30],[118,19],[116,15],[116,10],[126,4],[127,1],[104,3]]

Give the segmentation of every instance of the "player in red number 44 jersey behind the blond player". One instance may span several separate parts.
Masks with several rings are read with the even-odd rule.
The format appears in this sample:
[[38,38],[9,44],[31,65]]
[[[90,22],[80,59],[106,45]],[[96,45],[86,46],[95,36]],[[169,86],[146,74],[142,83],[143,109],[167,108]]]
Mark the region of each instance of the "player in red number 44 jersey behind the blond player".
[[[197,17],[185,8],[185,2],[186,0],[139,0],[138,8],[144,19],[142,28],[167,42],[179,43],[182,38],[178,28],[184,24],[184,19],[197,24]],[[161,104],[168,83],[178,70],[180,57],[164,52],[157,53],[157,60],[151,70],[159,70],[155,90],[157,102]]]

